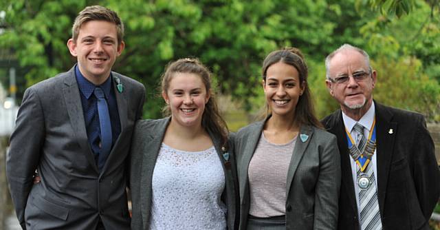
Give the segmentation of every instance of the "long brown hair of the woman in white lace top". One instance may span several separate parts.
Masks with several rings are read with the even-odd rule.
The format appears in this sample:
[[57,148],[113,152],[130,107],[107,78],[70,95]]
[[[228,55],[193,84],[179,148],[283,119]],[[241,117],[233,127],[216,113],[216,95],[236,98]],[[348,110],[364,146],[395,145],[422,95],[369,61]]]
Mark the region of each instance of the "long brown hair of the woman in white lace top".
[[[203,85],[206,87],[206,93],[210,96],[201,117],[201,126],[212,134],[219,135],[222,144],[225,145],[228,142],[228,126],[220,116],[219,107],[212,92],[211,73],[208,68],[203,65],[199,59],[193,58],[179,59],[169,63],[162,75],[162,92],[167,92],[170,81],[173,79],[175,73],[190,73],[200,76]],[[169,116],[171,113],[169,105],[166,105],[162,111],[166,116]]]

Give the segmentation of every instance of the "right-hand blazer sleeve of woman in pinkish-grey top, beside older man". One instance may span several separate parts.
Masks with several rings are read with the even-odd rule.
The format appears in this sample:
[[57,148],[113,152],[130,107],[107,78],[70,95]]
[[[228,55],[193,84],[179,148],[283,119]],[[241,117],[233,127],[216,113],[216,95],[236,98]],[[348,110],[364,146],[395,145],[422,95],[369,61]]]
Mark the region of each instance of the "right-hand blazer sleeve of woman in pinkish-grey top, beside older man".
[[320,152],[320,172],[315,190],[314,229],[336,229],[341,182],[340,155],[336,136]]

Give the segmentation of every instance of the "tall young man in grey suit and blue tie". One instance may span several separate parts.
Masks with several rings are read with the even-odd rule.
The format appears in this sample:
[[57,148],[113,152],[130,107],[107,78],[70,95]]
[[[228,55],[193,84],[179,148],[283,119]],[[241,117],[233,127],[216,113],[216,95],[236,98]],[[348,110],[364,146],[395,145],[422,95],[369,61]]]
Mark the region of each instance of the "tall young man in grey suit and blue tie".
[[130,229],[126,164],[145,89],[111,72],[124,50],[115,12],[85,8],[72,34],[78,63],[23,96],[6,164],[12,200],[23,229]]

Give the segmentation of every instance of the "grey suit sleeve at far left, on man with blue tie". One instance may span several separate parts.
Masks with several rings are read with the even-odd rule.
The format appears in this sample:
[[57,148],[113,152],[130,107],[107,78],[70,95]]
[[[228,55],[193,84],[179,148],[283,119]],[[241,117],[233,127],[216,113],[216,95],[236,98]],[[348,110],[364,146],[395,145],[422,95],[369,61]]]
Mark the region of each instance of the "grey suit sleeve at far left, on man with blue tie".
[[32,176],[39,164],[40,149],[45,136],[43,109],[39,96],[32,89],[26,90],[23,96],[6,159],[12,202],[23,229],[25,206],[33,185]]

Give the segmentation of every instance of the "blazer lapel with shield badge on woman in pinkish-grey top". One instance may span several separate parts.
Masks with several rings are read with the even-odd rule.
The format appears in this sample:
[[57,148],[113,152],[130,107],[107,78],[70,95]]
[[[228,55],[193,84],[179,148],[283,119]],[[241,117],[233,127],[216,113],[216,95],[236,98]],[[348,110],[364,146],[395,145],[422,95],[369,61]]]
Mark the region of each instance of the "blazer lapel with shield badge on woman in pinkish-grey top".
[[296,169],[303,158],[305,149],[310,143],[311,136],[314,134],[313,129],[308,125],[302,125],[298,137],[296,138],[295,149],[290,158],[289,169],[287,171],[286,198],[289,196],[292,180],[294,180]]

